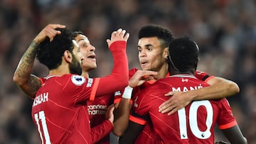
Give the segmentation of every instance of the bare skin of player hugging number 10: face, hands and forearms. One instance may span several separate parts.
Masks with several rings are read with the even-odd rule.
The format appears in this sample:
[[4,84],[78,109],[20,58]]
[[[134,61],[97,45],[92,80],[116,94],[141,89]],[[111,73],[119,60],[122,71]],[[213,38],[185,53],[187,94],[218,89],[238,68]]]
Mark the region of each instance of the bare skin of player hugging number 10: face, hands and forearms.
[[[131,79],[129,79],[129,87],[138,87],[146,80],[158,80],[166,77],[168,74],[168,48],[161,48],[161,41],[157,37],[141,38],[138,42],[138,57],[142,70],[138,70]],[[155,72],[155,73],[153,73]],[[147,79],[145,79],[145,77]],[[150,78],[149,78],[150,77]],[[169,115],[182,109],[191,101],[202,99],[221,99],[225,96],[231,96],[239,92],[239,87],[235,82],[220,77],[214,77],[208,81],[210,87],[197,89],[188,92],[169,92],[166,96],[171,96],[171,99],[165,101],[159,106],[159,112]],[[122,99],[119,104],[121,107],[116,110],[119,114],[114,120],[114,135],[122,136],[129,126],[129,109],[131,105],[129,99]]]

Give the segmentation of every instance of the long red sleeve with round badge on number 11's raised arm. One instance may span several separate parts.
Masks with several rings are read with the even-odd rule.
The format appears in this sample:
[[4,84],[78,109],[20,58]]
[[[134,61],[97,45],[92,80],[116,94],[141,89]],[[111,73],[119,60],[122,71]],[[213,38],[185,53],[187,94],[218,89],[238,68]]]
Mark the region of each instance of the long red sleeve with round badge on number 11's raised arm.
[[[114,68],[110,75],[106,77],[97,77],[94,79],[73,75],[71,82],[77,87],[74,87],[75,95],[73,101],[93,101],[95,96],[104,96],[112,94],[128,84],[128,59],[126,55],[127,43],[124,40],[119,40],[110,45],[110,50],[114,57]],[[82,88],[81,88],[82,87]]]

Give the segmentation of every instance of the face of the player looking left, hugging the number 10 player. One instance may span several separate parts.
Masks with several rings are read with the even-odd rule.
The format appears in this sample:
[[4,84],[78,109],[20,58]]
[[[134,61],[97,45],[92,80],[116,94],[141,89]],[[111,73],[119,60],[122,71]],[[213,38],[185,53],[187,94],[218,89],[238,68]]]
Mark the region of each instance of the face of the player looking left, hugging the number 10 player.
[[142,70],[159,72],[166,69],[167,48],[161,48],[156,37],[141,38],[138,43],[139,64]]

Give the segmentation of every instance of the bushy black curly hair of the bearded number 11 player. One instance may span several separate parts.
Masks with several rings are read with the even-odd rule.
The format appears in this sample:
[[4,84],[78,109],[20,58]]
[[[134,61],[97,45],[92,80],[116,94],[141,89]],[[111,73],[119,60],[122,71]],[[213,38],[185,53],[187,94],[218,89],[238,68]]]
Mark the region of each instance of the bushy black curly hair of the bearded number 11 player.
[[55,30],[61,31],[61,33],[55,35],[51,42],[49,38],[46,38],[40,44],[36,55],[39,62],[46,65],[49,70],[58,68],[65,50],[73,53],[74,48],[72,35],[67,28],[55,28]]

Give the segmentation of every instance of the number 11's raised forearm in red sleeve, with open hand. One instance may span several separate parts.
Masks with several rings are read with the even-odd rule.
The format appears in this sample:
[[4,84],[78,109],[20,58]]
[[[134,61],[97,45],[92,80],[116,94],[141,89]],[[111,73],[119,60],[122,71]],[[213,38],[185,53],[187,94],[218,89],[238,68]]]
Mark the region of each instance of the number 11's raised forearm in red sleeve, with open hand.
[[128,58],[126,53],[128,38],[129,33],[119,28],[112,33],[111,39],[107,39],[107,44],[113,55],[114,67],[110,75],[99,78],[96,96],[116,92],[128,85]]

